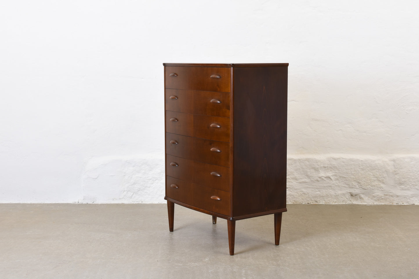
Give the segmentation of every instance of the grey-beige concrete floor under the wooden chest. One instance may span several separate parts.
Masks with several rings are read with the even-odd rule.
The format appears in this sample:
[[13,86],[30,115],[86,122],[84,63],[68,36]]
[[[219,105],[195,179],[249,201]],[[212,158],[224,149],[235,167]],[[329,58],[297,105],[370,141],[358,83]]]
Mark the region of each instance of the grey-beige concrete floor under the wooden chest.
[[166,204],[0,204],[0,278],[419,278],[419,206],[289,204],[227,222]]

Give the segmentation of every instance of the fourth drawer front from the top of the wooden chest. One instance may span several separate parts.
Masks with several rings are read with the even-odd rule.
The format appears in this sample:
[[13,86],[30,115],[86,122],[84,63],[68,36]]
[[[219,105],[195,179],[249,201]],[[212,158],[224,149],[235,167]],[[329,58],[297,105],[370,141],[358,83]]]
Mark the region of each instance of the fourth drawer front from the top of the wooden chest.
[[204,163],[230,166],[230,143],[166,133],[166,153]]

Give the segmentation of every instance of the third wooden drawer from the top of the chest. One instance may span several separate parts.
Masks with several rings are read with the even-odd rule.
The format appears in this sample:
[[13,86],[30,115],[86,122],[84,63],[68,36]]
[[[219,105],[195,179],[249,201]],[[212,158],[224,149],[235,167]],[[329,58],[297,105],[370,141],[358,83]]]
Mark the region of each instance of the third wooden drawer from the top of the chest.
[[230,142],[230,118],[166,111],[166,132]]

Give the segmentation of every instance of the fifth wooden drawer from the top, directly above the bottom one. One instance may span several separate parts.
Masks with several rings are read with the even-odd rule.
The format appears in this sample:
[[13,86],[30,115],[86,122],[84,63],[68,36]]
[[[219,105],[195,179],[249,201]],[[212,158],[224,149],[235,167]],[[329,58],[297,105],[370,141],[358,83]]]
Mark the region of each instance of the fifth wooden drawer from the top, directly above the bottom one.
[[166,155],[166,174],[191,183],[230,192],[230,168]]

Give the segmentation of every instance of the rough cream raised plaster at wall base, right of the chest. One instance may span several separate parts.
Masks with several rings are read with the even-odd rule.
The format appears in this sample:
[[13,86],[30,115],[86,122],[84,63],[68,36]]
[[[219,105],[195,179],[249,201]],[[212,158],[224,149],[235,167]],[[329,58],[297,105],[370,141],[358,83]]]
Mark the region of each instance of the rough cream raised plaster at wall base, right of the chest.
[[288,158],[287,202],[419,204],[419,156]]

